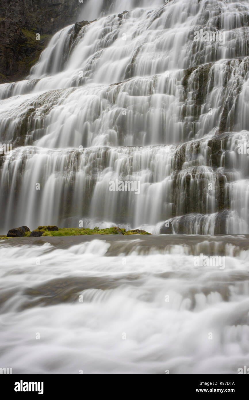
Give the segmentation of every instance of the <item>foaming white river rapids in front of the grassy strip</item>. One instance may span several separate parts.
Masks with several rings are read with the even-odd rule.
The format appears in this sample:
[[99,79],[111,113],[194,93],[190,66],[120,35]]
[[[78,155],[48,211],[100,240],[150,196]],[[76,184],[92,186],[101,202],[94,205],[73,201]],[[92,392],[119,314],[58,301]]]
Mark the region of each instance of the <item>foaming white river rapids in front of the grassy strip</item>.
[[[245,238],[192,237],[159,250],[149,237],[146,253],[137,236],[66,248],[52,239],[0,243],[0,361],[13,373],[237,374],[246,365]],[[213,243],[225,268],[194,266]]]

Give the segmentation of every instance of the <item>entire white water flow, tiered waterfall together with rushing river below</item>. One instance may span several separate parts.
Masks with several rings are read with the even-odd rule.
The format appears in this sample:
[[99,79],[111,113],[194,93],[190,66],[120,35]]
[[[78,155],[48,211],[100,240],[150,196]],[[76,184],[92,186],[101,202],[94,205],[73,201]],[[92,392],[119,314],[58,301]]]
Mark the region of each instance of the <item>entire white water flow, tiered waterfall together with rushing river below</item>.
[[[0,143],[13,145],[0,155],[1,234],[79,221],[159,234],[166,220],[174,233],[0,241],[3,365],[236,374],[248,363],[248,27],[248,1],[92,0],[25,80],[0,85]],[[222,40],[195,41],[201,30]],[[110,191],[116,181],[139,193]],[[226,267],[197,267],[200,254]]]

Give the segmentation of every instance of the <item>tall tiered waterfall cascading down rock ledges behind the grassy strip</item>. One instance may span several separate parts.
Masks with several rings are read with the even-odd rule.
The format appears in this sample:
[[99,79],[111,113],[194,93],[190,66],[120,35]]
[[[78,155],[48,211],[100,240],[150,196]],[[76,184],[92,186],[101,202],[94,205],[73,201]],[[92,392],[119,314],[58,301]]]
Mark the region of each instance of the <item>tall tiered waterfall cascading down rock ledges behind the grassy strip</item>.
[[[248,24],[247,1],[86,2],[25,80],[0,85],[0,142],[13,145],[0,231],[84,220],[159,233],[169,220],[248,234]],[[195,41],[201,30],[223,40]],[[111,192],[116,179],[139,195]]]

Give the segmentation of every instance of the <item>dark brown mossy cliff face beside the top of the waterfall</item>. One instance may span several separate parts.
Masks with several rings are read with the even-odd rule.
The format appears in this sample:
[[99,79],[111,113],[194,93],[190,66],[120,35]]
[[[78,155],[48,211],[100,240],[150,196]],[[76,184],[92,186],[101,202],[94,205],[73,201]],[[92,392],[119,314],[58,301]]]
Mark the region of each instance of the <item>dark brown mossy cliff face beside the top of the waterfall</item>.
[[1,0],[0,83],[22,80],[52,35],[76,22],[81,10],[77,0]]

